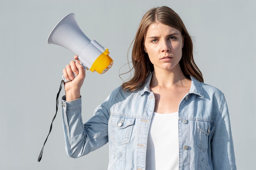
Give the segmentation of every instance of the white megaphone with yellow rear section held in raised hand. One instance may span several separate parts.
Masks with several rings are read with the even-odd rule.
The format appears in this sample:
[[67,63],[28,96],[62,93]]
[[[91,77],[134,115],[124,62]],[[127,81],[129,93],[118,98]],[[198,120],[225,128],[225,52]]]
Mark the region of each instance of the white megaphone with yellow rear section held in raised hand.
[[48,44],[56,44],[74,52],[84,68],[92,72],[103,74],[112,67],[113,60],[108,56],[108,49],[95,40],[91,41],[81,31],[74,13],[66,15],[56,24],[49,34]]

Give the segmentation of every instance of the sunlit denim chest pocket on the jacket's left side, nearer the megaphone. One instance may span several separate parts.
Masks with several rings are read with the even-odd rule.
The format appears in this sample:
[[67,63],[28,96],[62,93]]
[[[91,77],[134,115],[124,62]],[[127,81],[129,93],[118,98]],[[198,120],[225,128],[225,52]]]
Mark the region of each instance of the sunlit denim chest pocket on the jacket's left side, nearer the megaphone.
[[123,116],[110,116],[111,139],[117,145],[123,145],[130,142],[135,118],[126,118]]

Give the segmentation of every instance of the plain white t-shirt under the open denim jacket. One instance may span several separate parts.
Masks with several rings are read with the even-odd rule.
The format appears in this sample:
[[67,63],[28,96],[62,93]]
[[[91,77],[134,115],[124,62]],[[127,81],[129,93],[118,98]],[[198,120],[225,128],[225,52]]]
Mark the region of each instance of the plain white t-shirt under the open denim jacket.
[[178,112],[153,113],[148,133],[146,170],[179,169]]

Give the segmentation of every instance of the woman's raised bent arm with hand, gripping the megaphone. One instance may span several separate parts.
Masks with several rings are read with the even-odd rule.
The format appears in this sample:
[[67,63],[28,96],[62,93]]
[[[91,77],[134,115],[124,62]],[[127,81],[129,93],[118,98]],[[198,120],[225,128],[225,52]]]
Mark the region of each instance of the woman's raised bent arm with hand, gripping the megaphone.
[[[74,59],[77,60],[78,56]],[[70,65],[63,69],[63,75],[67,80],[71,80],[65,83],[66,95],[62,98],[66,151],[70,157],[76,158],[108,142],[108,107],[99,107],[95,115],[83,124],[80,96],[80,89],[85,79],[83,66],[79,61],[70,61]]]

